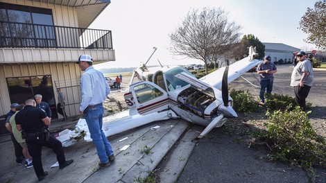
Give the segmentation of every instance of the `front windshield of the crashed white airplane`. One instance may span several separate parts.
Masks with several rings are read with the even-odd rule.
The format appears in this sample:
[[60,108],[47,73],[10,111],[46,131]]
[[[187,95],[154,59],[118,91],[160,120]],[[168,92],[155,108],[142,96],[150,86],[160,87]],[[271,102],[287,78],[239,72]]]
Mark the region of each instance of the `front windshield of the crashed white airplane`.
[[185,82],[184,80],[180,80],[179,78],[175,77],[175,75],[182,72],[188,73],[190,76],[192,76],[192,74],[183,67],[176,67],[174,69],[166,71],[165,78],[166,78],[166,84],[168,85],[169,91],[189,85],[188,82]]

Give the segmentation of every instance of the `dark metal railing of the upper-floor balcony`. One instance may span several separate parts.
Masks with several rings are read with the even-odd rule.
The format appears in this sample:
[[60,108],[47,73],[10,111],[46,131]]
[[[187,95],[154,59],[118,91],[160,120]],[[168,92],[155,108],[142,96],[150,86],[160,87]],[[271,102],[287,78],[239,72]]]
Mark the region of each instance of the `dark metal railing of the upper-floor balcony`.
[[112,49],[111,30],[0,21],[0,48]]

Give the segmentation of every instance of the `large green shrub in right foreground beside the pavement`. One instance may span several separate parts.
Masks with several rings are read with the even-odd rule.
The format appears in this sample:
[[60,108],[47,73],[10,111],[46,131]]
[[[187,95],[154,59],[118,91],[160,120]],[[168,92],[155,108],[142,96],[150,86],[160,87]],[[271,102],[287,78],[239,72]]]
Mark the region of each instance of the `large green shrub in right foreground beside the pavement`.
[[306,112],[299,107],[289,111],[266,113],[268,122],[263,135],[273,149],[272,159],[309,167],[326,163],[325,139],[311,127]]

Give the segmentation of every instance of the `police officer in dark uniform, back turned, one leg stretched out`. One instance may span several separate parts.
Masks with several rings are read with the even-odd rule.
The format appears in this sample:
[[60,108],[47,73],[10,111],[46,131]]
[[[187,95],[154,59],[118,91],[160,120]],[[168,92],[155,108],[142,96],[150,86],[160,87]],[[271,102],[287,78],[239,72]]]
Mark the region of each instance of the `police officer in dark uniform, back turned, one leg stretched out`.
[[23,130],[25,134],[28,151],[33,157],[34,171],[38,180],[42,181],[48,175],[42,166],[42,146],[53,150],[58,159],[60,169],[74,162],[74,159],[66,161],[62,143],[49,134],[49,132],[46,132],[51,121],[46,116],[44,110],[35,107],[35,100],[28,98],[25,101],[25,105],[24,109],[20,110],[15,116],[17,130]]

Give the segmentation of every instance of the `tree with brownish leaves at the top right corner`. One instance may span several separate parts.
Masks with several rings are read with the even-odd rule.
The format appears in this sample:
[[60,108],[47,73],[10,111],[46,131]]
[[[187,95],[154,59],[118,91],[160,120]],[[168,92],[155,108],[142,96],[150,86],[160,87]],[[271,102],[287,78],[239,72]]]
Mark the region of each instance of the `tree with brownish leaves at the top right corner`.
[[317,1],[315,8],[307,8],[307,12],[301,17],[300,29],[308,34],[307,43],[316,44],[318,48],[326,48],[326,2]]

